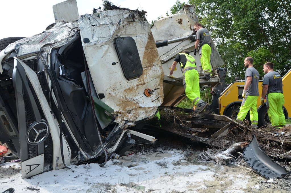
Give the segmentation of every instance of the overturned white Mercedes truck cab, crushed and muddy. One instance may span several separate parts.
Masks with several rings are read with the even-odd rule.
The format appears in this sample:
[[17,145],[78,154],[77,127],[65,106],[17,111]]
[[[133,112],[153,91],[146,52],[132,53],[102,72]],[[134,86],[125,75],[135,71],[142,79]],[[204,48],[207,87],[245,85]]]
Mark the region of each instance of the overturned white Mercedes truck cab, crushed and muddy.
[[0,61],[0,140],[21,159],[22,178],[72,162],[106,163],[137,141],[155,141],[129,129],[163,102],[164,75],[141,13],[57,22],[8,45]]

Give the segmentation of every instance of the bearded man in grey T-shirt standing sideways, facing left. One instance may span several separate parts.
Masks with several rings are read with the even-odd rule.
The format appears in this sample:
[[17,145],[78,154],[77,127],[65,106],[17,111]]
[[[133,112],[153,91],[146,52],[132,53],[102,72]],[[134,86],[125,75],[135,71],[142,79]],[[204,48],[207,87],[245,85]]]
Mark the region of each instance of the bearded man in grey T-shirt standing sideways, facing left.
[[242,105],[239,108],[237,114],[237,121],[244,121],[246,115],[250,111],[251,126],[258,128],[258,111],[257,100],[259,97],[259,72],[253,67],[254,59],[252,57],[246,57],[244,59],[244,67],[246,67],[246,73],[244,76],[244,90],[242,91]]

